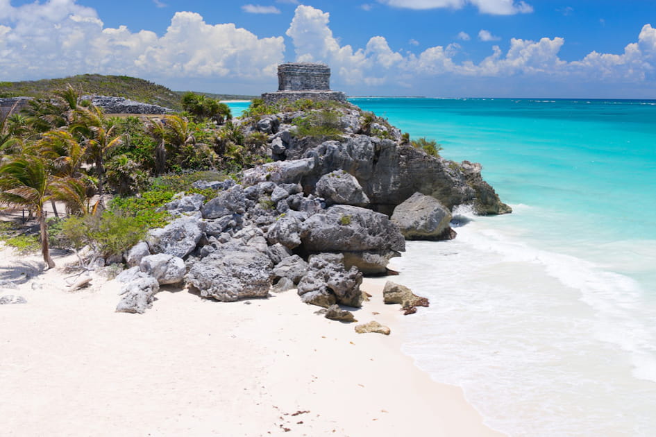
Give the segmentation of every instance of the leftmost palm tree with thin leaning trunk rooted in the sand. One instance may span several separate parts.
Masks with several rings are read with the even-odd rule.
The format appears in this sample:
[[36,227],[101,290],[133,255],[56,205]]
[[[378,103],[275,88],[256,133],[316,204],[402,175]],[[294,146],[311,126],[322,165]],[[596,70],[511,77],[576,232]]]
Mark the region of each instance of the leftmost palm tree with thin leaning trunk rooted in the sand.
[[41,229],[41,253],[48,268],[55,262],[50,257],[43,206],[51,198],[52,188],[52,177],[41,156],[19,155],[0,166],[0,203],[35,212]]

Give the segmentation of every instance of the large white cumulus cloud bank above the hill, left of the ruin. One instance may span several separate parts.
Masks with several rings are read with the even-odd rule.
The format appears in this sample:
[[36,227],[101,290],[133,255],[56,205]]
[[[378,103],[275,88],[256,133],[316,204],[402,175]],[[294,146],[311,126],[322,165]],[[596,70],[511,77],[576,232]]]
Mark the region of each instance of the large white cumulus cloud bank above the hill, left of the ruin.
[[0,0],[0,71],[5,80],[82,73],[146,78],[274,78],[283,37],[258,38],[234,24],[177,12],[162,36],[106,28],[74,0],[10,6]]

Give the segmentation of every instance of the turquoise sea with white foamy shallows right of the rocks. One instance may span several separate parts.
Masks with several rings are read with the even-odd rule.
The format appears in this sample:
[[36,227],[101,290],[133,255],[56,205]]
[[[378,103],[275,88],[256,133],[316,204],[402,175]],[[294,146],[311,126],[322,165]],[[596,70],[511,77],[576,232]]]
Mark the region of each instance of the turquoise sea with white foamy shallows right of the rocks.
[[514,209],[463,207],[456,239],[392,260],[431,302],[404,352],[511,436],[655,436],[656,101],[351,101],[480,162]]

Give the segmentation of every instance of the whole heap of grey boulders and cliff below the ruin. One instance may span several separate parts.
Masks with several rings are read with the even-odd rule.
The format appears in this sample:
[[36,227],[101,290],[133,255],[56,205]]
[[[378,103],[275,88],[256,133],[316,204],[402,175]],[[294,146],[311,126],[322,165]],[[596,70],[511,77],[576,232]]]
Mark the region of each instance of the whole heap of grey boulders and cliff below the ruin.
[[[365,135],[357,108],[340,114],[344,136],[331,141],[295,135],[303,112],[241,121],[246,133],[269,136],[275,161],[244,171],[239,184],[197,182],[216,190],[210,199],[180,194],[167,204],[178,218],[126,254],[117,311],[142,313],[161,285],[184,284],[224,302],[296,289],[327,317],[353,320],[336,305],[360,307],[362,275],[387,273],[405,239],[455,237],[455,205],[509,212],[478,164],[431,157],[382,121],[367,129],[383,135]],[[386,301],[406,314],[428,305],[399,287]]]

